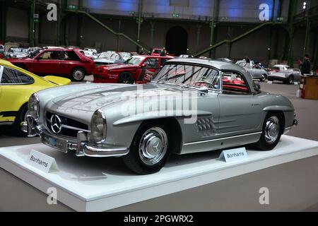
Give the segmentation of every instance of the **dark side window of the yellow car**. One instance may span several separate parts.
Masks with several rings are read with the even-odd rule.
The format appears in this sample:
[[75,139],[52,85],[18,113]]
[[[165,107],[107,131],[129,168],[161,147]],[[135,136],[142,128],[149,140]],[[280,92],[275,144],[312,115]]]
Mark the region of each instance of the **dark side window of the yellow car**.
[[34,79],[20,71],[4,68],[1,84],[31,84]]

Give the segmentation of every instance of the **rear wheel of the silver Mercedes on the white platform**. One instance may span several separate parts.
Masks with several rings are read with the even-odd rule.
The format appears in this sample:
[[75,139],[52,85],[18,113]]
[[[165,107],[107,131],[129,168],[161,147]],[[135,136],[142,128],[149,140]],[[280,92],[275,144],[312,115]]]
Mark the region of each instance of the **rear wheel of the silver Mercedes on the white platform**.
[[261,138],[255,143],[259,150],[272,150],[281,139],[283,121],[276,114],[268,114],[265,118]]

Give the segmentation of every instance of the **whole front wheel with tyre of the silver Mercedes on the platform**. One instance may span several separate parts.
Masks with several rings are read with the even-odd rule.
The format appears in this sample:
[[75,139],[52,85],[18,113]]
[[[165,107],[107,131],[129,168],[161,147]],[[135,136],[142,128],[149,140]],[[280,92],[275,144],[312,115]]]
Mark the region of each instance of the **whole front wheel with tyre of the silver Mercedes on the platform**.
[[165,124],[144,124],[137,131],[129,153],[123,157],[126,167],[137,174],[158,172],[170,154],[169,129]]

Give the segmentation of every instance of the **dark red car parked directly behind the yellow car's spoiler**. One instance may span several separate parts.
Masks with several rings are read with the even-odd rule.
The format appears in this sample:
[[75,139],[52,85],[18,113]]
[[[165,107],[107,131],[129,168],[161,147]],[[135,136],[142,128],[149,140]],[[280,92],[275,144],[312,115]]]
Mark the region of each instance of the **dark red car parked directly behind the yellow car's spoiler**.
[[38,49],[28,57],[7,60],[35,74],[71,75],[73,81],[82,81],[95,69],[94,61],[77,49]]

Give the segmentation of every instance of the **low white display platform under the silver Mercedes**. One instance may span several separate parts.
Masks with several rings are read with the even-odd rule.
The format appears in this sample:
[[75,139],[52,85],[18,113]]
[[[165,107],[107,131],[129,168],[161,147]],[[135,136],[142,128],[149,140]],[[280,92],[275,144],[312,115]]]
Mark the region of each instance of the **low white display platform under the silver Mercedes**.
[[[28,165],[31,149],[54,157],[59,171]],[[36,144],[0,148],[0,167],[45,193],[56,187],[57,199],[74,210],[102,211],[318,155],[318,142],[282,136],[274,150],[247,153],[246,160],[231,163],[217,159],[220,151],[173,155],[160,172],[140,176],[119,158],[76,157]]]

